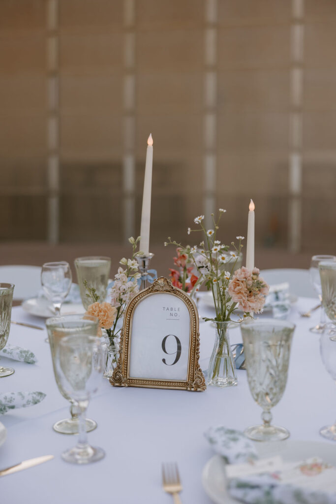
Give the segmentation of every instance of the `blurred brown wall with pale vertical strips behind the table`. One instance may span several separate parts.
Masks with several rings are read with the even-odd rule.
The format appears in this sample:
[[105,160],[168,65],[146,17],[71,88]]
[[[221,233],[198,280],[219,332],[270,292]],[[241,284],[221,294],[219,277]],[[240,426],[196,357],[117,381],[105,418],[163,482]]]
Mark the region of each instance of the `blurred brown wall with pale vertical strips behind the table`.
[[[334,0],[1,0],[2,243],[223,241],[335,252]],[[277,266],[277,265],[274,265]],[[307,264],[306,267],[308,267]]]

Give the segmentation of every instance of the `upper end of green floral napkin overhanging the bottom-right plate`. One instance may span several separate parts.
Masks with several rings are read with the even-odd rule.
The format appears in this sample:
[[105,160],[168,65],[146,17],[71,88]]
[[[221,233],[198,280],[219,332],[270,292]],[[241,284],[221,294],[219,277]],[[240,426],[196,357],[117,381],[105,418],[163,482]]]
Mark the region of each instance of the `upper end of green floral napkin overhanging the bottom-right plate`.
[[240,464],[258,458],[252,442],[239,430],[228,429],[221,425],[210,427],[204,435],[227,464]]

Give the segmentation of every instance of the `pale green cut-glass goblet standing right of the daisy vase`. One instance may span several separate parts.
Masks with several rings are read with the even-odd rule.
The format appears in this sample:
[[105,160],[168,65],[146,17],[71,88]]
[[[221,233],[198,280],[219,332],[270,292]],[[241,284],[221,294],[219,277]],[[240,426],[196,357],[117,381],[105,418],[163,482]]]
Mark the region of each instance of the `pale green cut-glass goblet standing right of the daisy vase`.
[[241,324],[248,385],[254,401],[263,410],[263,424],[244,431],[255,441],[279,441],[289,436],[284,427],[271,425],[271,409],[278,404],[286,387],[294,329],[291,322],[276,319]]

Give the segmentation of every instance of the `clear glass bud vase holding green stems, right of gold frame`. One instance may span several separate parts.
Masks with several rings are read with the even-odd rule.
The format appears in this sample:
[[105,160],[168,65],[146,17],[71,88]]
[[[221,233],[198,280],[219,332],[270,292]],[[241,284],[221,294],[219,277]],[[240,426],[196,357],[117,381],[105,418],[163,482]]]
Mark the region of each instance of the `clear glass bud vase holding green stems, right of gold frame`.
[[229,338],[230,322],[214,322],[215,345],[208,367],[208,385],[234,387],[237,385],[236,366]]

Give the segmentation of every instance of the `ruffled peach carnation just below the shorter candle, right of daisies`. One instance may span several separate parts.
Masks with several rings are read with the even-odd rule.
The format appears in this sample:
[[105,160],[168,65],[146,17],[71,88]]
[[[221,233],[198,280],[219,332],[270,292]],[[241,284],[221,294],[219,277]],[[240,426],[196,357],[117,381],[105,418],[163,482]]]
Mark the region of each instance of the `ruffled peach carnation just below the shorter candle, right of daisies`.
[[265,304],[268,289],[266,282],[259,277],[258,268],[248,270],[243,266],[235,271],[229,283],[228,292],[242,311],[260,313]]

